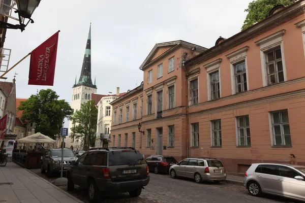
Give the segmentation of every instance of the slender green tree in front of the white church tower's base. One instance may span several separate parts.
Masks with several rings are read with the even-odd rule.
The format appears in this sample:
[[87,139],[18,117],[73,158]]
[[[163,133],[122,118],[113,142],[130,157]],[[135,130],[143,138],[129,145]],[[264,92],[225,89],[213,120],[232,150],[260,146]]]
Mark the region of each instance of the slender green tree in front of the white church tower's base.
[[84,149],[88,149],[89,146],[94,147],[98,122],[98,109],[94,105],[94,100],[81,104],[80,110],[76,110],[74,115],[70,117],[70,120],[74,124],[71,128],[72,133],[70,137],[80,140],[84,139]]

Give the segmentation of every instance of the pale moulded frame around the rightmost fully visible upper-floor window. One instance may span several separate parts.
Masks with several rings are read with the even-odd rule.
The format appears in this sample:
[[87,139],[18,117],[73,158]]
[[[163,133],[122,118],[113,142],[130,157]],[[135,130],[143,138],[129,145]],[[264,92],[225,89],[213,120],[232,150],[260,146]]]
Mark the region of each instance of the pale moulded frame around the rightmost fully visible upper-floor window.
[[284,43],[283,43],[283,35],[285,34],[285,31],[286,31],[285,29],[282,29],[276,33],[273,33],[268,37],[265,37],[255,42],[255,44],[260,47],[263,87],[269,86],[268,78],[267,78],[268,74],[267,74],[267,66],[266,66],[266,52],[271,51],[276,47],[281,47],[284,82],[287,81],[286,62],[285,62]]

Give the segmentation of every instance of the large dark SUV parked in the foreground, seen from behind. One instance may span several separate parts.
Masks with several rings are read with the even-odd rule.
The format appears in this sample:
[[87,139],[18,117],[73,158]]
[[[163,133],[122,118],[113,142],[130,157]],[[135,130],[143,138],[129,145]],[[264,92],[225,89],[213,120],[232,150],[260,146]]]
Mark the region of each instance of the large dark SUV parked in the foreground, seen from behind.
[[68,190],[74,185],[87,187],[91,201],[99,202],[102,193],[141,194],[149,183],[148,166],[134,148],[93,148],[71,164],[67,172]]

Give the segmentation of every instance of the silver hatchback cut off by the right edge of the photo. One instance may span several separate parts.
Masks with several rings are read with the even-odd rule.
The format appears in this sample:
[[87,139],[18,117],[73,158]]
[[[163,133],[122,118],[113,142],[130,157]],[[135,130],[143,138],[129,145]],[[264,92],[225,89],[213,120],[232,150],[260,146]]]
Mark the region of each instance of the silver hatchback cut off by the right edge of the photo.
[[262,193],[305,200],[305,166],[280,163],[253,163],[243,185],[253,196]]

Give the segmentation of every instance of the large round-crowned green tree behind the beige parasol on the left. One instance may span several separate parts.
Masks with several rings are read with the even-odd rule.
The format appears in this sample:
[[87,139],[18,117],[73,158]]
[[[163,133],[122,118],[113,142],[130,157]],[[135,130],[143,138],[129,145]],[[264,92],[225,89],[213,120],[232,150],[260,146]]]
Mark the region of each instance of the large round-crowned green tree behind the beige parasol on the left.
[[21,101],[18,111],[23,111],[21,120],[36,123],[36,132],[55,139],[60,134],[64,119],[73,114],[73,109],[64,99],[51,89],[42,89],[31,95],[26,101]]

